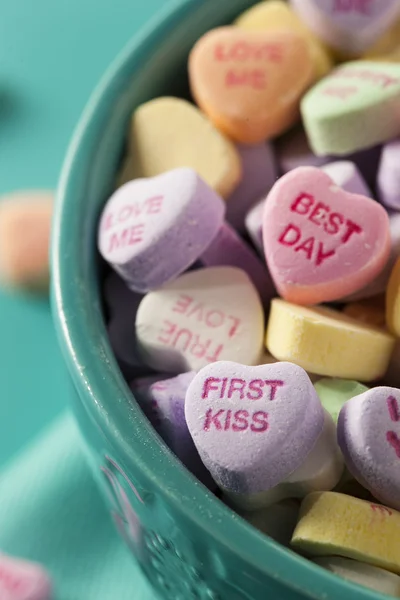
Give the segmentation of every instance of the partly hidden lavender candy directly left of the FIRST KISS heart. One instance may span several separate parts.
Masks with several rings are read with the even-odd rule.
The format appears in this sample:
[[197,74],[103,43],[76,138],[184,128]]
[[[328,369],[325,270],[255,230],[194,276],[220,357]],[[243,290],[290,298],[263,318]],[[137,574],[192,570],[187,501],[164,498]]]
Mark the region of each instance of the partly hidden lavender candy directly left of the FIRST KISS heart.
[[216,485],[201,462],[185,419],[185,395],[196,372],[140,378],[131,383],[141,409],[172,452],[210,489]]

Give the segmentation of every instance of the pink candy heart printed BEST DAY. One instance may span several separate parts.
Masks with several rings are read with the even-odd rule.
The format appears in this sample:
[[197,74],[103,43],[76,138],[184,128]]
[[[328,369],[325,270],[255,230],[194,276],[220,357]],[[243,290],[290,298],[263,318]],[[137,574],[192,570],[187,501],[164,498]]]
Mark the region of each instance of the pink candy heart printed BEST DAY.
[[345,192],[314,167],[295,169],[274,185],[265,203],[263,239],[280,295],[305,305],[361,289],[390,253],[382,206]]

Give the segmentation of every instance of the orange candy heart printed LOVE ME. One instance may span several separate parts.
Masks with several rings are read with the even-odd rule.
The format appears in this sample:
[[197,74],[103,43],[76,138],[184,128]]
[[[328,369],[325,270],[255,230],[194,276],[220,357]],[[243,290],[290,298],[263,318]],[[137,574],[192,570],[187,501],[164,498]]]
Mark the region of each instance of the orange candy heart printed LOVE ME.
[[314,68],[307,42],[293,31],[221,27],[194,46],[189,75],[193,96],[211,121],[234,140],[256,144],[298,119]]

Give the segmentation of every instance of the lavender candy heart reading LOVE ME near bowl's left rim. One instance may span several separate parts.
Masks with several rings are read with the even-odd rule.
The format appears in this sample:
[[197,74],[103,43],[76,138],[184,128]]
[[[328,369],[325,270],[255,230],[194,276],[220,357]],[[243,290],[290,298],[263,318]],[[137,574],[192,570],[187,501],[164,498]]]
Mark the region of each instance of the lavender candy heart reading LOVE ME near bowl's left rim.
[[99,251],[129,288],[144,293],[194,263],[217,235],[224,214],[223,200],[193,169],[136,179],[108,200]]

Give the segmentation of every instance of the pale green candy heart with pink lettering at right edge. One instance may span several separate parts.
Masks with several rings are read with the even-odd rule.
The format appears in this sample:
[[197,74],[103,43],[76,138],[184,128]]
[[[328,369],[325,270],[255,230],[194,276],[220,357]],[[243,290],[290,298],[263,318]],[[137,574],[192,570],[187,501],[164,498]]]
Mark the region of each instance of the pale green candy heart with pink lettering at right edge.
[[354,61],[317,83],[301,102],[316,154],[343,155],[400,133],[400,65]]

